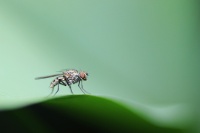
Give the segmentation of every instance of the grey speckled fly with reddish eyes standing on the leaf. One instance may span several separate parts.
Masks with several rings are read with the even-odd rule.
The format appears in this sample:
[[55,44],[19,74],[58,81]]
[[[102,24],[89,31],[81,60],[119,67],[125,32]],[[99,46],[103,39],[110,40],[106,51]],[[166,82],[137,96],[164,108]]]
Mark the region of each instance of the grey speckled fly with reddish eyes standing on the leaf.
[[[86,94],[88,93],[86,90],[83,89],[83,83],[82,81],[87,80],[88,73],[85,71],[78,71],[76,69],[69,69],[69,70],[64,70],[62,71],[61,74],[54,74],[54,75],[49,75],[49,76],[42,76],[42,77],[37,77],[35,78],[36,80],[38,79],[45,79],[45,78],[51,78],[57,76],[51,83],[50,83],[50,88],[52,88],[52,92],[49,94],[51,95],[54,91],[54,87],[58,85],[58,89],[56,93],[59,91],[59,85],[63,86],[69,86],[71,93],[73,94],[71,85],[78,83],[78,87],[80,90]],[[54,95],[56,95],[56,93]]]

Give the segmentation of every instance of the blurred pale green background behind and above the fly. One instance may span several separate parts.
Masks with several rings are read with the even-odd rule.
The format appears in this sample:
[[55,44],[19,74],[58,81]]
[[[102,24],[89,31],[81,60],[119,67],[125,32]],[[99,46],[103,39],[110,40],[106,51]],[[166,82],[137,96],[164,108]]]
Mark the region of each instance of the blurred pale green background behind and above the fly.
[[[84,88],[93,95],[130,105],[187,105],[190,115],[198,115],[197,5],[197,0],[1,0],[1,107],[44,98],[53,78],[35,77],[75,68],[89,73]],[[68,94],[61,87],[57,95]]]

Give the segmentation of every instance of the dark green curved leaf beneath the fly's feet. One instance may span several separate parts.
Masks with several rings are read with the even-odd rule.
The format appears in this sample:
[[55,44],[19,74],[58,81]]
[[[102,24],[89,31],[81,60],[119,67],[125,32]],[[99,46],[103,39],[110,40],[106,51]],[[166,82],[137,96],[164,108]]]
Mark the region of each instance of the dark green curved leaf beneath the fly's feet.
[[127,107],[102,97],[72,95],[0,112],[6,132],[182,133],[155,125]]

